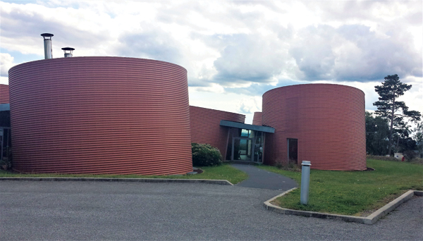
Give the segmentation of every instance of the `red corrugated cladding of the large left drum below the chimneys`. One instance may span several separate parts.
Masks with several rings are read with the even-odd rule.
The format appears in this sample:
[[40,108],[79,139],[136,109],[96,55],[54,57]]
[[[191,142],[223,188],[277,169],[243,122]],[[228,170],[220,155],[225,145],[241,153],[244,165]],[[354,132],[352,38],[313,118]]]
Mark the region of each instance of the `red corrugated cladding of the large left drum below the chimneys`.
[[181,66],[141,58],[52,58],[11,68],[9,83],[16,171],[192,171]]

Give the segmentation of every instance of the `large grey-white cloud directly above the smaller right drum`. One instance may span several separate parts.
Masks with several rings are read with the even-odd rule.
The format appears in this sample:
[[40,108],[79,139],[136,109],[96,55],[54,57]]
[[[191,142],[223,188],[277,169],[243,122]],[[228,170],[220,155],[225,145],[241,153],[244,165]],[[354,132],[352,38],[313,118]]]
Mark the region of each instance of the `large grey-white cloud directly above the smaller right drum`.
[[347,80],[367,82],[390,73],[400,76],[422,73],[422,53],[405,44],[405,37],[377,37],[369,27],[327,25],[298,32],[290,54],[305,80]]

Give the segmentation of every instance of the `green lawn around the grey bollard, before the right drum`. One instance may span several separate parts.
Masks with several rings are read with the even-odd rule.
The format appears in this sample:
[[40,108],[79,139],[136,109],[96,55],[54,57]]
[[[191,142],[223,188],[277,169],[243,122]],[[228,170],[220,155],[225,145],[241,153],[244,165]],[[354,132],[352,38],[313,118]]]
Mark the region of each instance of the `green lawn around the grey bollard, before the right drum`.
[[[300,204],[300,188],[279,197],[275,204],[287,209],[367,216],[407,190],[423,190],[423,166],[406,162],[367,160],[375,171],[310,171],[309,203]],[[293,178],[301,173],[259,166]]]

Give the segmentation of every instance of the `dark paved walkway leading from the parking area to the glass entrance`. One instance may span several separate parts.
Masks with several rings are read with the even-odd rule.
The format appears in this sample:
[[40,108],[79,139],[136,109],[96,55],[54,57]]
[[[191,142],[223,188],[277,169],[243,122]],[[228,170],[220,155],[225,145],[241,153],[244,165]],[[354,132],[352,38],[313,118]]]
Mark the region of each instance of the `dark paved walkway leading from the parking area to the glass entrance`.
[[298,184],[295,182],[295,180],[277,173],[262,170],[253,165],[232,164],[231,166],[248,174],[248,179],[238,183],[237,186],[281,191],[286,191],[293,187],[298,187]]

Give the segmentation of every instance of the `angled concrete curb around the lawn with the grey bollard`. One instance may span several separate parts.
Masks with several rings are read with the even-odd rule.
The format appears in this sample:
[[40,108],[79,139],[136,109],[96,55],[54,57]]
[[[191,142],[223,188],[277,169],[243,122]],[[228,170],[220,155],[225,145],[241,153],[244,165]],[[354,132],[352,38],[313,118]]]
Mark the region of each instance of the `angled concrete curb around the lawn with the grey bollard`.
[[393,211],[393,209],[396,209],[398,206],[400,206],[400,204],[403,204],[404,202],[407,202],[408,200],[410,200],[412,196],[414,195],[423,196],[423,191],[410,190],[402,194],[400,197],[394,199],[392,202],[386,204],[385,206],[382,206],[380,209],[376,210],[373,214],[370,214],[367,217],[348,216],[348,215],[340,215],[340,214],[325,214],[325,213],[319,213],[316,211],[300,211],[300,210],[293,210],[293,209],[284,209],[270,203],[274,199],[281,197],[295,189],[297,189],[297,187],[294,187],[293,189],[283,192],[282,194],[278,194],[278,196],[267,200],[266,202],[264,202],[264,206],[266,207],[267,210],[275,211],[276,213],[279,213],[279,214],[290,214],[290,215],[306,216],[306,217],[313,217],[313,218],[331,218],[331,219],[338,219],[338,220],[343,220],[347,222],[373,224],[373,223],[376,223],[376,221],[378,221],[381,217],[385,216],[386,214],[389,214],[391,211]]

